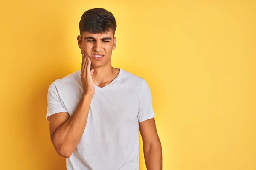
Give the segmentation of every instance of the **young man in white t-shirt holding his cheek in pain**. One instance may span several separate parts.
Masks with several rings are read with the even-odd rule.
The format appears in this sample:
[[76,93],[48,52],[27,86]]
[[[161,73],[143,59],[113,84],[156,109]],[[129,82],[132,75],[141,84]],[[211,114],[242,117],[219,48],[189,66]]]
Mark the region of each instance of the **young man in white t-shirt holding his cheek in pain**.
[[111,66],[116,20],[103,8],[79,22],[81,70],[49,86],[47,120],[67,170],[139,170],[139,130],[148,170],[162,169],[151,90],[141,77]]

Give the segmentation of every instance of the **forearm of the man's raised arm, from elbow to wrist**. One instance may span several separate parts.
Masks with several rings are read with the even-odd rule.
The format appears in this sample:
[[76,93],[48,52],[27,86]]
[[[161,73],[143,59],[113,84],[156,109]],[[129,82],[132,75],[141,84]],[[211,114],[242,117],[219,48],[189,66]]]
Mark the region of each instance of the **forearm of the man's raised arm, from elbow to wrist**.
[[79,143],[86,126],[92,95],[83,95],[72,116],[53,135],[57,152],[69,157]]

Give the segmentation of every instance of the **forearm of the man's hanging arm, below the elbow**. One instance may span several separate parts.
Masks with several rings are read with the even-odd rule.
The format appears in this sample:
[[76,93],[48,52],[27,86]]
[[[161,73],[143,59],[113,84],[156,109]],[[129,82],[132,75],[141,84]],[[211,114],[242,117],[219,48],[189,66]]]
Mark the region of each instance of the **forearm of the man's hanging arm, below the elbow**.
[[162,170],[162,146],[156,144],[143,144],[144,158],[147,170]]

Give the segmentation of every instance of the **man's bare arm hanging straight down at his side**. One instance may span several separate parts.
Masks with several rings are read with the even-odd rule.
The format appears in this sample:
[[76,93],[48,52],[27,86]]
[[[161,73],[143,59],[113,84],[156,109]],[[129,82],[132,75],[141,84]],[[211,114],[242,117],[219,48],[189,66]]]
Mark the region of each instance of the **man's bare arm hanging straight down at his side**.
[[162,170],[162,146],[157,134],[155,119],[139,122],[147,170]]

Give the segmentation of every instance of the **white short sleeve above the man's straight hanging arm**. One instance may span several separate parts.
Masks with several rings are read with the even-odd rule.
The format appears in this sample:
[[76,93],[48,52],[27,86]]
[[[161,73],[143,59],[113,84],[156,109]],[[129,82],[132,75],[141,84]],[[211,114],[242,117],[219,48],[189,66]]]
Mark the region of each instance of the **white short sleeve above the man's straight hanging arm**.
[[143,80],[143,85],[140,93],[140,109],[138,113],[139,122],[143,122],[147,119],[151,119],[155,116],[152,106],[152,94],[148,86],[148,83]]

